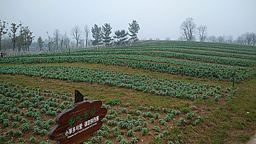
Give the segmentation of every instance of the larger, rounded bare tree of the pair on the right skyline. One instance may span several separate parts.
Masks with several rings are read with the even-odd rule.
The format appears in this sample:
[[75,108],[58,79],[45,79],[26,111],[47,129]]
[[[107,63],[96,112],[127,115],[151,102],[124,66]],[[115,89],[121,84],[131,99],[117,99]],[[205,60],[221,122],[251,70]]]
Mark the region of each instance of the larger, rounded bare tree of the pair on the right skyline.
[[194,19],[189,17],[186,19],[186,21],[183,21],[183,23],[181,23],[181,34],[188,41],[192,41],[194,38],[193,33],[195,32],[195,28],[196,24],[194,23]]

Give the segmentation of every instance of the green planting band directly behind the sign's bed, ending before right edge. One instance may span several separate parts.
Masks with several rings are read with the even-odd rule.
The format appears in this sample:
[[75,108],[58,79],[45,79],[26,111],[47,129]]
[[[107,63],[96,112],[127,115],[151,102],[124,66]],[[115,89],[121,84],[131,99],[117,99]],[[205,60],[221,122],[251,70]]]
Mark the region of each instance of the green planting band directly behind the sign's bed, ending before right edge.
[[219,93],[220,86],[196,84],[169,79],[160,79],[144,74],[127,74],[111,70],[90,69],[86,67],[67,66],[0,66],[1,74],[19,74],[50,79],[85,81],[122,88],[133,88],[136,91],[167,95],[177,98],[209,98]]

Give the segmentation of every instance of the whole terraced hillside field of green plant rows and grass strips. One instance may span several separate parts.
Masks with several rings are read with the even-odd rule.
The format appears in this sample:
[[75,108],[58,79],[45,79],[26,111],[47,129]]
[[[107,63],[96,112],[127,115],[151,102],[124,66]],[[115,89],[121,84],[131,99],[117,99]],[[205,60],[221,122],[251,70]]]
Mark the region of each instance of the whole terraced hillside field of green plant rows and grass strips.
[[55,144],[47,132],[76,88],[108,109],[88,144],[246,143],[256,129],[255,76],[256,47],[235,44],[159,41],[1,58],[0,142]]

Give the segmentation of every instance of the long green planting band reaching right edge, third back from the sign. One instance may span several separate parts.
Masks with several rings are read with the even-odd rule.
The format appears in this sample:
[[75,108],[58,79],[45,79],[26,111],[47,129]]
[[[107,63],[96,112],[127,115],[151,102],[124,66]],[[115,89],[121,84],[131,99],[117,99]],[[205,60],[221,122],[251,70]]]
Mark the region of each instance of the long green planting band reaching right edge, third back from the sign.
[[[110,58],[110,59],[109,59]],[[121,60],[129,59],[129,60]],[[137,61],[139,60],[139,61]],[[142,62],[152,61],[157,63]],[[38,57],[38,58],[9,58],[3,59],[1,63],[96,63],[104,65],[118,65],[122,67],[132,67],[137,69],[145,69],[153,72],[163,72],[168,74],[180,74],[181,76],[210,78],[218,80],[232,81],[235,77],[236,82],[252,79],[255,75],[255,68],[252,67],[234,67],[207,63],[196,63],[185,60],[173,60],[169,58],[155,58],[147,56],[133,55],[93,55],[93,56],[61,56],[61,57]],[[159,64],[169,63],[169,64]],[[249,72],[253,71],[253,72]]]

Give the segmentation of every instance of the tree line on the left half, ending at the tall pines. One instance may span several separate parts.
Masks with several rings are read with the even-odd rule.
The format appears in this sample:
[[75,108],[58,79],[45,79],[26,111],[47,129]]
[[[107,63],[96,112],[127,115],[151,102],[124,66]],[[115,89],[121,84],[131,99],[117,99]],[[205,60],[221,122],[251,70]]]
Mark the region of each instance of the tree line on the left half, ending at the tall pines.
[[[74,26],[70,30],[69,34],[66,31],[64,32],[64,34],[61,34],[59,29],[55,29],[52,35],[48,31],[46,32],[46,39],[43,39],[42,36],[39,36],[34,42],[32,42],[35,37],[32,36],[33,32],[30,31],[30,28],[28,26],[23,26],[23,23],[21,22],[19,25],[12,23],[11,30],[8,33],[9,38],[7,37],[5,39],[2,39],[3,36],[7,34],[7,24],[8,23],[6,23],[5,21],[0,21],[0,41],[4,43],[2,45],[4,45],[5,49],[10,48],[10,46],[12,45],[12,55],[27,54],[31,45],[32,47],[35,47],[35,50],[39,51],[40,53],[43,51],[60,52],[63,51],[63,49],[65,48],[65,51],[70,51],[70,47],[74,49],[74,47],[77,48],[79,44],[81,48],[84,46],[87,47],[90,44],[92,46],[97,46],[97,49],[99,48],[99,46],[106,47],[112,45],[113,47],[115,47],[116,44],[120,44],[120,46],[122,46],[123,43],[127,41],[128,35],[131,37],[130,45],[132,45],[138,40],[137,35],[140,29],[139,23],[136,20],[133,20],[132,23],[129,23],[129,32],[124,29],[116,30],[114,32],[115,35],[113,36],[111,36],[112,27],[110,26],[110,23],[105,23],[102,26],[94,24],[91,29],[88,25],[85,25],[82,30],[79,26]],[[18,29],[20,29],[19,33]],[[93,37],[93,39],[91,40],[89,40],[90,33],[92,33]],[[71,40],[69,35],[74,40]],[[83,39],[83,35],[85,39]],[[115,42],[114,39],[117,39],[117,42]],[[2,45],[0,43],[0,49],[2,49]],[[18,48],[16,49],[16,51],[18,52],[16,52],[15,54],[14,51],[16,47]],[[21,50],[23,51],[23,53],[19,53]]]

